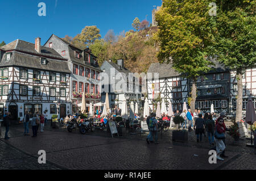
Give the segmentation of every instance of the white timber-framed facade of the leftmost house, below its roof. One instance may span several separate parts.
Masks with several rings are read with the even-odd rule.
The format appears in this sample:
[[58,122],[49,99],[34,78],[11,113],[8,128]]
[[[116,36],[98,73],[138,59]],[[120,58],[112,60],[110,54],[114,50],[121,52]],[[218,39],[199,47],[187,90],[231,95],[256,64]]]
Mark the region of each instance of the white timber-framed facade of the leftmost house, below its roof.
[[[1,114],[3,110],[7,110],[11,112],[11,116],[23,119],[24,111],[29,111],[32,114],[43,113],[48,110],[46,113],[47,119],[51,119],[51,116],[57,113],[59,113],[59,116],[60,114],[66,115],[69,113],[69,82],[65,84],[60,83],[60,74],[61,77],[65,76],[65,79],[69,80],[68,73],[16,66],[9,66],[8,68],[1,68],[0,70],[3,71],[4,69],[8,69],[8,77],[1,77],[0,79]],[[24,72],[23,78],[20,76],[20,70]],[[34,81],[34,71],[39,71],[40,81]],[[55,81],[49,80],[50,72],[53,73],[52,75],[56,75]],[[3,91],[5,86],[8,86],[7,92],[6,90]],[[35,88],[38,88],[39,92],[36,92]],[[50,89],[52,95],[50,95]],[[56,92],[60,92],[60,90],[63,93],[65,92],[65,94],[57,96]],[[57,109],[57,104],[61,107],[60,110]]]

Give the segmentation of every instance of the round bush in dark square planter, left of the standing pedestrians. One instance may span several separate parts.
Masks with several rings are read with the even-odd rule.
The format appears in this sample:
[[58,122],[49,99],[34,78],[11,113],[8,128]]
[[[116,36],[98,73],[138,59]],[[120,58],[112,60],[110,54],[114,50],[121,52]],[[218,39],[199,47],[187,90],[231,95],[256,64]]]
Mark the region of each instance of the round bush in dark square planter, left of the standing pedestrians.
[[175,131],[172,131],[172,141],[188,141],[188,132],[184,129],[180,130],[179,128],[179,124],[182,124],[184,121],[184,118],[181,116],[174,117],[174,123],[176,124],[177,129]]

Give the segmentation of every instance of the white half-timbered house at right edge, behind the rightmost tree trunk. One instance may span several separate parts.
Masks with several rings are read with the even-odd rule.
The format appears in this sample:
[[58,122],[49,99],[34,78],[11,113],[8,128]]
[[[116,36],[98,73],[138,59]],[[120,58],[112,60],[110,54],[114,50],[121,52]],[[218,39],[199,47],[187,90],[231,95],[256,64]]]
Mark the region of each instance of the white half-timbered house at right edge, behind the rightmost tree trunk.
[[[251,96],[253,99],[255,108],[256,108],[256,65],[252,68],[247,68],[242,77],[242,86],[243,86],[243,106],[242,113],[245,116],[246,103]],[[236,115],[237,108],[237,78],[236,71],[230,71],[230,113]],[[255,109],[256,111],[256,109]]]

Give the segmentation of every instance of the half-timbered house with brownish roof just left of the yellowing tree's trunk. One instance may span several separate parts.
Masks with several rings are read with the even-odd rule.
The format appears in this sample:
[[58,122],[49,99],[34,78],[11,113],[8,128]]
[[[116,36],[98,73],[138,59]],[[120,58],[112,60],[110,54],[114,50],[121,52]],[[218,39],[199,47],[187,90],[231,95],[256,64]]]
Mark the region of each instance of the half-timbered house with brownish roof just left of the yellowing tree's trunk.
[[183,103],[188,100],[187,79],[181,77],[181,74],[175,71],[170,64],[151,64],[147,73],[152,74],[152,79],[147,78],[148,104],[151,110],[156,109],[154,100],[160,96],[164,99],[167,108],[168,103],[171,102],[174,110],[182,111]]

